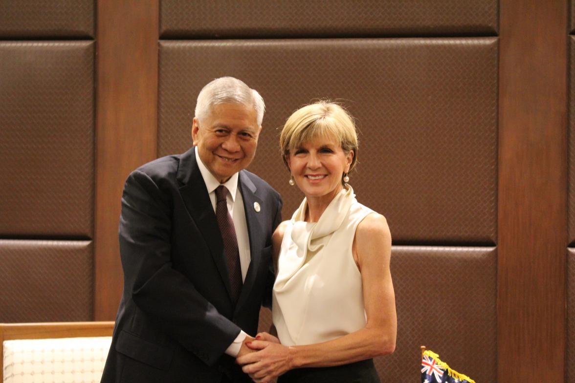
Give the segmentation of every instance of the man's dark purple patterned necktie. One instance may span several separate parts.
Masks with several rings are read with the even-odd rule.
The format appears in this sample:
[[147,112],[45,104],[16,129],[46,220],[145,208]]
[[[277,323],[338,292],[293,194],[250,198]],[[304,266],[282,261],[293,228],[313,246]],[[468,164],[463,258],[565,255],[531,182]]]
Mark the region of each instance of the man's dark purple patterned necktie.
[[237,249],[236,229],[233,227],[232,216],[228,212],[228,203],[226,195],[228,189],[224,185],[216,188],[216,218],[217,224],[220,226],[221,238],[224,241],[225,258],[228,264],[229,284],[232,288],[233,302],[237,302],[237,297],[240,296],[241,286],[241,266],[240,266],[240,252]]

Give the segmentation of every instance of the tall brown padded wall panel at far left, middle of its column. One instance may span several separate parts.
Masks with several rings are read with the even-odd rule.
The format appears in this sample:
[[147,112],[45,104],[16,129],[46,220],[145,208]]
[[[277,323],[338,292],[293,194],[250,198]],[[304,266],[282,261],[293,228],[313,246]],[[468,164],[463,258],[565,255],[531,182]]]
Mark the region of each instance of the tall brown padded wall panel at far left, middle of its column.
[[0,237],[91,237],[94,42],[0,42]]

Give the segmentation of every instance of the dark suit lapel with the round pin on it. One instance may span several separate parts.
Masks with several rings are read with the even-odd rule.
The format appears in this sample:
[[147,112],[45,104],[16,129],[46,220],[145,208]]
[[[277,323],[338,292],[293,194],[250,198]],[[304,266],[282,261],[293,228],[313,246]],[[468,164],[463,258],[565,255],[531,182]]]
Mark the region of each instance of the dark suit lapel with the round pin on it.
[[241,310],[241,306],[246,303],[248,297],[250,296],[251,289],[254,287],[256,273],[259,270],[259,264],[261,261],[262,249],[265,245],[265,238],[262,233],[263,230],[263,217],[266,212],[255,211],[255,203],[259,206],[263,206],[263,201],[256,194],[257,190],[248,178],[244,171],[239,173],[238,184],[241,191],[241,198],[244,200],[244,211],[246,212],[246,223],[248,227],[248,236],[250,237],[250,267],[246,274],[246,280],[244,280],[244,285],[241,288],[240,297],[237,300],[236,312]]

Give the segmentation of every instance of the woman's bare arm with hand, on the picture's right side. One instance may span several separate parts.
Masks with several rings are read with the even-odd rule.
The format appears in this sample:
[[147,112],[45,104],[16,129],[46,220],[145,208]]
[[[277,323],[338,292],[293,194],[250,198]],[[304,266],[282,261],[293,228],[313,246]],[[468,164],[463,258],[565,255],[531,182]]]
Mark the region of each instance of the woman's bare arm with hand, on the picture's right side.
[[384,216],[370,214],[359,223],[353,253],[362,277],[366,326],[315,345],[286,347],[251,342],[248,346],[260,351],[237,359],[244,365],[244,372],[267,382],[293,368],[342,365],[393,352],[397,318],[389,269],[391,235]]

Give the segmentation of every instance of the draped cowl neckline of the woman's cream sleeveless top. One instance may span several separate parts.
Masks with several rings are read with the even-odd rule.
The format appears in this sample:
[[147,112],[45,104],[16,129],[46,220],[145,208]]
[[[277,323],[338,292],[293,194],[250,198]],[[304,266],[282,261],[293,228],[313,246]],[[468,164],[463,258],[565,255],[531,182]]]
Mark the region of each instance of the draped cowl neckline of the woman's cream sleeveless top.
[[297,246],[296,256],[282,261],[282,268],[278,270],[274,285],[275,291],[280,292],[286,287],[290,278],[327,245],[331,234],[342,225],[354,202],[356,202],[354,191],[350,185],[346,184],[325,208],[320,219],[310,223],[305,222],[308,202],[304,198],[300,207],[292,215],[292,230],[286,233],[290,235],[292,243]]

